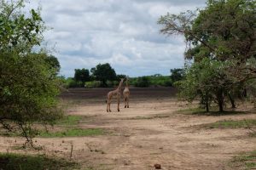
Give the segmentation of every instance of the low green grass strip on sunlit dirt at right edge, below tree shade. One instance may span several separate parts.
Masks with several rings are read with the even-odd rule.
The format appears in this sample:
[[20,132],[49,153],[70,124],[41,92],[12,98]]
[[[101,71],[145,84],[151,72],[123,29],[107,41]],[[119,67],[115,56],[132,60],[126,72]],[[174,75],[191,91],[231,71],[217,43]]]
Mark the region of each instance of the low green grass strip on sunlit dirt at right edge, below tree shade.
[[218,122],[212,122],[209,124],[204,125],[208,128],[247,128],[249,127],[255,127],[256,126],[256,120],[241,120],[241,121],[232,121],[232,120],[224,120],[224,121],[218,121]]

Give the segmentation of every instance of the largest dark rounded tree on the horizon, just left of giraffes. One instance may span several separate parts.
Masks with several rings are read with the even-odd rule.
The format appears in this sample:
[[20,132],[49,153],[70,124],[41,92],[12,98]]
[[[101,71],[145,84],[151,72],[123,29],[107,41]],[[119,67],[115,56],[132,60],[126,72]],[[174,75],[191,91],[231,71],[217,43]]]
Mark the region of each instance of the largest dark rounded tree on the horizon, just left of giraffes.
[[90,72],[96,80],[101,81],[102,87],[107,87],[108,80],[116,80],[116,73],[108,63],[96,65],[96,67],[91,68]]

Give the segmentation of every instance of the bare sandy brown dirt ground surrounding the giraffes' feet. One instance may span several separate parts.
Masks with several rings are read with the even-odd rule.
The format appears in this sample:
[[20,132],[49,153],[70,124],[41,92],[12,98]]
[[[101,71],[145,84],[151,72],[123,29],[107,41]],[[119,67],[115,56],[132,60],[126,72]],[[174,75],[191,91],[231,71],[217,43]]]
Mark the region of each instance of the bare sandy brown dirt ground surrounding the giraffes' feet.
[[[79,127],[101,127],[108,133],[94,137],[36,139],[45,153],[68,158],[73,144],[73,161],[93,169],[230,169],[232,156],[256,149],[256,138],[248,129],[210,129],[197,125],[220,120],[256,118],[253,113],[225,116],[184,115],[189,107],[177,102],[173,88],[131,88],[130,108],[116,101],[107,113],[109,89],[70,89],[61,95],[68,114],[87,116]],[[0,137],[0,151],[13,150],[22,139]],[[84,169],[84,168],[83,168]],[[86,168],[85,168],[86,169]]]

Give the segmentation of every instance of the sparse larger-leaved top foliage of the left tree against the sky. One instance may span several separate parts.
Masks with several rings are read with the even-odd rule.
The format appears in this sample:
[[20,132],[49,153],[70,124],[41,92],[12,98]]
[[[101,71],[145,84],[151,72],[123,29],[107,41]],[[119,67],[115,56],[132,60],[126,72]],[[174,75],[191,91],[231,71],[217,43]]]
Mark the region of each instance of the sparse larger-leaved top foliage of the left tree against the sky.
[[26,54],[42,41],[44,22],[39,12],[31,9],[27,16],[21,12],[23,7],[23,0],[1,1],[0,51]]

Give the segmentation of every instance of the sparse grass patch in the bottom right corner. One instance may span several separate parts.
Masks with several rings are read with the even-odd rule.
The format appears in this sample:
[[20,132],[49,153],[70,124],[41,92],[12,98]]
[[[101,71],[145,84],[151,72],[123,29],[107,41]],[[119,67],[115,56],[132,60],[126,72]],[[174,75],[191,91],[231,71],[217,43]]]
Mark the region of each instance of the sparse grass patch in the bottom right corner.
[[230,161],[230,167],[247,170],[256,169],[256,150],[242,154],[241,156],[235,156]]

